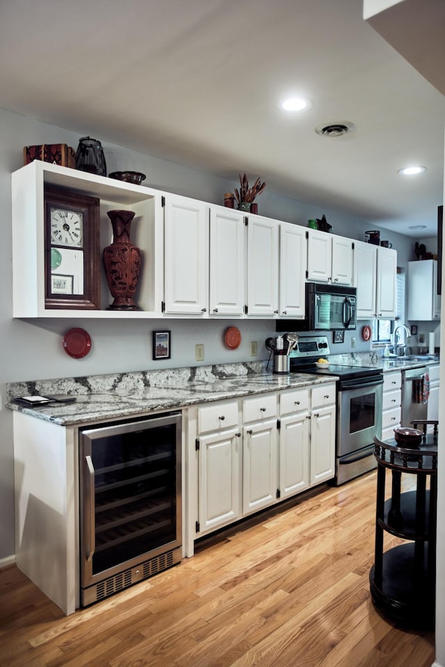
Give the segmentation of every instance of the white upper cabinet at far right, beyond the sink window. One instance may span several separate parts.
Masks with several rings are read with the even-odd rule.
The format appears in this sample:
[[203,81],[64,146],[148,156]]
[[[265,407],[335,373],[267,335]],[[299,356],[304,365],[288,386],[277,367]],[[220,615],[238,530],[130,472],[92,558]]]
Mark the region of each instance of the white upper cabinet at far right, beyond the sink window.
[[439,320],[437,260],[408,262],[408,320]]

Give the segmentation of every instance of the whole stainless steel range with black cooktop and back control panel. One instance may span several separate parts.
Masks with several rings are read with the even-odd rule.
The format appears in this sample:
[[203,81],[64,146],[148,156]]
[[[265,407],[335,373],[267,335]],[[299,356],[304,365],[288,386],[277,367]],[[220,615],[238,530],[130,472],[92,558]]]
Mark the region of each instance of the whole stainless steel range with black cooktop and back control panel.
[[327,336],[299,338],[291,352],[291,372],[337,375],[337,486],[375,468],[373,437],[382,435],[383,374],[377,368],[329,363],[316,366],[323,357],[329,359]]

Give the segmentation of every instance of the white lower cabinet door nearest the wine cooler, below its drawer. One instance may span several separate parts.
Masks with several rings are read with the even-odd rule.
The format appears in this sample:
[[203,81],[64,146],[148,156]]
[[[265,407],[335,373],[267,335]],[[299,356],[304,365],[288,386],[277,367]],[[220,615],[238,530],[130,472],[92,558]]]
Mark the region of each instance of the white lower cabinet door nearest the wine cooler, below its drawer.
[[238,429],[202,436],[199,452],[200,530],[241,516],[241,437]]

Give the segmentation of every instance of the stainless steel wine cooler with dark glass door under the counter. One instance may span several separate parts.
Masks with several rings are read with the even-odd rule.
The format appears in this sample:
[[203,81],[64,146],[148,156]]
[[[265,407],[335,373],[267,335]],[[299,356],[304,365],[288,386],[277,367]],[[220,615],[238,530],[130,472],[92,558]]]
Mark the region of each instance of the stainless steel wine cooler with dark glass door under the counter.
[[79,432],[81,605],[181,560],[181,413]]

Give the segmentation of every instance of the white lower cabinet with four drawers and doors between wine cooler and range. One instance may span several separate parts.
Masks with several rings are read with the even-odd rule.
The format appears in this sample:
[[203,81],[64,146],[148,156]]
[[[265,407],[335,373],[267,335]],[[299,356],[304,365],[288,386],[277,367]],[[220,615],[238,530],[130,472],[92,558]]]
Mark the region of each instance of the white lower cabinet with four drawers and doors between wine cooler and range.
[[190,407],[186,555],[197,537],[332,479],[335,414],[334,383]]

